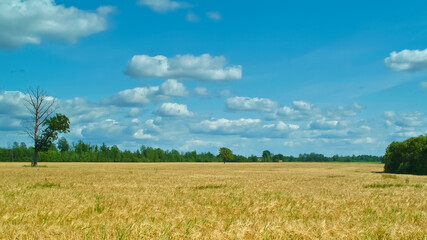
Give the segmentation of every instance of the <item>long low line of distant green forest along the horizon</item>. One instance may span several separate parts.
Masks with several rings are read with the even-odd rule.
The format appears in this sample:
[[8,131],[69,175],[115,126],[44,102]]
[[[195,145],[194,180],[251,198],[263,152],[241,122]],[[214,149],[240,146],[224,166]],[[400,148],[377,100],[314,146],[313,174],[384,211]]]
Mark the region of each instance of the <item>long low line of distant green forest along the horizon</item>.
[[[14,142],[8,148],[0,148],[0,162],[31,162],[34,148],[27,147],[25,143]],[[233,154],[234,155],[234,154]],[[179,152],[177,150],[162,150],[141,146],[136,151],[120,150],[116,145],[102,144],[91,145],[79,141],[71,145],[65,138],[58,140],[57,145],[52,145],[46,152],[40,152],[41,162],[222,162],[217,154]],[[234,155],[230,162],[384,162],[381,156],[332,156],[309,153],[300,154],[298,157],[273,154],[265,150],[261,156]]]

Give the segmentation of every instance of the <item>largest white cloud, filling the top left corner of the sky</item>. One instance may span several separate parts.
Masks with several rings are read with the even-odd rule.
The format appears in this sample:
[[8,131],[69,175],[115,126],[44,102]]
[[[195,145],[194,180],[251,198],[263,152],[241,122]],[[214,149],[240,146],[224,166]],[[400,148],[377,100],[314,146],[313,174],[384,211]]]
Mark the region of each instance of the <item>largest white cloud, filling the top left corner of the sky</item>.
[[44,39],[76,42],[107,29],[113,7],[96,12],[56,5],[54,0],[0,1],[0,48],[15,49],[40,44]]

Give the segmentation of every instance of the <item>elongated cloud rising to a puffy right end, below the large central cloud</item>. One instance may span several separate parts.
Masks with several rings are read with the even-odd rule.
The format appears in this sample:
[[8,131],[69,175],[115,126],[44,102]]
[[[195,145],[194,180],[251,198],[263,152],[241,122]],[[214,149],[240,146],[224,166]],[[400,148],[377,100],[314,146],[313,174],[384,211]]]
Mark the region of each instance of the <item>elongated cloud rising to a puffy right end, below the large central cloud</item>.
[[104,99],[102,103],[122,107],[141,107],[151,102],[185,97],[188,94],[184,84],[175,79],[169,79],[160,86],[138,87],[120,91],[116,95]]

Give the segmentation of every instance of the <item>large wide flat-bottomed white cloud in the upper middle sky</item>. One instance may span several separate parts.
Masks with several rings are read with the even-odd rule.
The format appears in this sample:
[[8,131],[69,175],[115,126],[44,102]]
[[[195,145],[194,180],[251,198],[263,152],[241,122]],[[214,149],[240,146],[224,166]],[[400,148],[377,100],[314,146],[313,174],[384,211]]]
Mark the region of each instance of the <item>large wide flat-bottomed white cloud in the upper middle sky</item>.
[[242,66],[226,66],[223,56],[212,57],[177,55],[167,58],[135,55],[129,62],[125,74],[133,78],[176,78],[204,81],[224,81],[242,78]]

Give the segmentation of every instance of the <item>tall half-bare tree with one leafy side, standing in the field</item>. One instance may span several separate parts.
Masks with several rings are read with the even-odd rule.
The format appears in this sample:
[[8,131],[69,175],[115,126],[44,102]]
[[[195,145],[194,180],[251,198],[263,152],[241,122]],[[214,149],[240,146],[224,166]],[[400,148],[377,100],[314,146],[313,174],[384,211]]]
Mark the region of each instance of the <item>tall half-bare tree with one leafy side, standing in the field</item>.
[[[34,141],[34,156],[31,165],[35,167],[39,160],[39,152],[47,151],[58,138],[58,133],[69,132],[70,120],[62,114],[51,117],[58,108],[56,99],[47,96],[40,87],[28,90],[25,107],[31,114],[31,121],[26,126],[26,132]],[[42,130],[43,127],[45,128]]]

